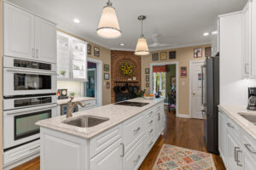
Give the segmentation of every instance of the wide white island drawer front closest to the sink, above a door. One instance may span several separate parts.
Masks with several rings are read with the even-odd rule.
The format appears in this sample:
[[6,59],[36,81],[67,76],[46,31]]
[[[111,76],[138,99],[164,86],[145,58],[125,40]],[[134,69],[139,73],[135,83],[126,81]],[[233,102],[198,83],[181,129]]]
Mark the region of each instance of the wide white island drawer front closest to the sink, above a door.
[[121,125],[119,125],[90,139],[90,158],[106,149],[110,144],[113,144],[116,140],[120,139],[121,136],[122,128]]

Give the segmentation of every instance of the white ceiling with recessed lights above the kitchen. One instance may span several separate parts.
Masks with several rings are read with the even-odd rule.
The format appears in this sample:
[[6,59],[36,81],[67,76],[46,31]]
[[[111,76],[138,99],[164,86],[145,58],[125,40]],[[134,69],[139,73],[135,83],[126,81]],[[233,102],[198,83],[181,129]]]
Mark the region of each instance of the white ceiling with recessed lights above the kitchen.
[[[153,43],[153,34],[160,34],[159,42],[176,48],[209,43],[206,31],[215,31],[218,14],[241,10],[247,0],[112,0],[116,8],[122,37],[108,40],[96,35],[102,8],[107,0],[9,0],[55,22],[59,28],[110,49],[134,50],[143,22],[144,36]],[[78,18],[79,24],[73,23]],[[124,42],[125,47],[119,43]],[[160,48],[149,48],[155,50]]]

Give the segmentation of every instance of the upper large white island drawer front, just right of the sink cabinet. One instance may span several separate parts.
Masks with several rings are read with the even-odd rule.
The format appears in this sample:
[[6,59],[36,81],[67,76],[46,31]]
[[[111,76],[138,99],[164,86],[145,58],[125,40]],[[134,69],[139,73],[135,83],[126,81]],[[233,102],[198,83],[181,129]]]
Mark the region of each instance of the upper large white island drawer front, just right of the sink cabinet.
[[123,122],[123,143],[125,144],[125,152],[131,148],[133,140],[143,134],[143,114],[138,114],[131,119]]

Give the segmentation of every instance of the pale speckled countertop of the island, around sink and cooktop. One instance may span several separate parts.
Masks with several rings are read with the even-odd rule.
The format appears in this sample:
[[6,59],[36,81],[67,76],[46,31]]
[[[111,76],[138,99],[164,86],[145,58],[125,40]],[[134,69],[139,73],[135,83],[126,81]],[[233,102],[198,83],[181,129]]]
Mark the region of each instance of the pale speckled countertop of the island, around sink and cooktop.
[[96,136],[99,133],[102,133],[108,130],[111,127],[118,125],[121,122],[131,118],[132,116],[136,116],[142,111],[147,110],[148,108],[164,101],[164,99],[130,99],[129,101],[134,102],[144,102],[149,103],[148,105],[144,105],[143,107],[136,106],[125,106],[125,105],[104,105],[100,107],[96,107],[94,109],[79,111],[73,113],[73,117],[69,119],[73,119],[78,116],[90,115],[90,116],[101,116],[108,118],[109,121],[102,122],[95,127],[76,127],[63,123],[66,121],[66,116],[56,116],[53,118],[45,119],[36,123],[36,125],[40,127],[46,127],[49,129],[53,129],[55,131],[59,131],[62,133],[68,133],[75,136],[82,137],[84,139],[90,139]]

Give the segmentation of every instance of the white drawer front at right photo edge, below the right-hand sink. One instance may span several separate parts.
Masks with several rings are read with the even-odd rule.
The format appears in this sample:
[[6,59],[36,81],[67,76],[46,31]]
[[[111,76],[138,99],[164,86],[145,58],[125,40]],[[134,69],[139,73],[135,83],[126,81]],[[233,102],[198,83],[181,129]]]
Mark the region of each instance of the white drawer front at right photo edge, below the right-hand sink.
[[247,152],[248,156],[251,156],[256,162],[256,140],[253,139],[249,134],[243,133],[242,135],[242,146]]

